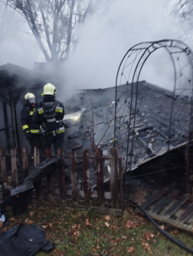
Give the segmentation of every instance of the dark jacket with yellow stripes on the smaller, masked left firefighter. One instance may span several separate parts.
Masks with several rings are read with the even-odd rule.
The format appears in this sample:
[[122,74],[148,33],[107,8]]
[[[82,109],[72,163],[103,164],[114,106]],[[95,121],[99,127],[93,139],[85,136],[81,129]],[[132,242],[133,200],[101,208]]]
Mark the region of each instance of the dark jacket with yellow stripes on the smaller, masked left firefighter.
[[21,110],[21,124],[25,133],[39,134],[40,126],[34,123],[34,112],[36,110],[36,105],[34,107],[31,104],[26,103],[24,108]]

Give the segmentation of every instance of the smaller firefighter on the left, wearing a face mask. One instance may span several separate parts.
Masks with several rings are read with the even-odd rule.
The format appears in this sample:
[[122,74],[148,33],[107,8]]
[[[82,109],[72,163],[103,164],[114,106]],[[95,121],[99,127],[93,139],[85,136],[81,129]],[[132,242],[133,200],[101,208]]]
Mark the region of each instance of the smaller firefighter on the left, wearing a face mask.
[[37,104],[35,103],[34,94],[25,94],[25,106],[21,110],[21,124],[25,132],[26,139],[30,141],[31,155],[34,153],[34,147],[41,149],[44,152],[45,141],[41,134],[41,127],[34,123],[34,112]]

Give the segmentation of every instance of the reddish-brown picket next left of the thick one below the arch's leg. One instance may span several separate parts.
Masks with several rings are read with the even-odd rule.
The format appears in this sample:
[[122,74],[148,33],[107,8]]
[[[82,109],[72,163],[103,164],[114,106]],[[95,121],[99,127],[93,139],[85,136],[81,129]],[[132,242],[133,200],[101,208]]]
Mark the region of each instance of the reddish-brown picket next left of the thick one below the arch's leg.
[[104,207],[105,199],[104,199],[104,182],[103,182],[103,150],[96,149],[96,186],[97,186],[97,205],[100,207]]

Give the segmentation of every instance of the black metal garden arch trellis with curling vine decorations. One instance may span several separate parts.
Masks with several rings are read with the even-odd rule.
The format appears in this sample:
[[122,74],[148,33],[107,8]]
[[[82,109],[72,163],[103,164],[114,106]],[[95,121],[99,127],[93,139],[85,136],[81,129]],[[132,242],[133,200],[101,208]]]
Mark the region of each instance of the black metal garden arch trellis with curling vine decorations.
[[[192,139],[192,133],[193,130],[193,53],[191,49],[188,47],[187,44],[185,44],[182,41],[178,40],[161,40],[161,41],[149,41],[149,42],[142,42],[139,44],[134,45],[132,48],[129,49],[129,51],[126,52],[124,55],[122,61],[119,64],[119,68],[116,74],[116,94],[115,94],[115,119],[114,119],[114,139],[113,139],[113,146],[116,146],[116,135],[117,135],[117,129],[116,129],[116,122],[117,122],[117,114],[119,112],[119,109],[117,110],[117,105],[119,103],[119,100],[121,97],[125,97],[125,104],[129,98],[129,123],[127,128],[127,146],[126,146],[126,168],[128,165],[128,155],[129,155],[129,138],[132,137],[131,141],[131,153],[130,153],[130,161],[129,161],[129,169],[132,170],[132,155],[133,155],[133,143],[135,138],[135,125],[136,125],[136,111],[137,111],[137,102],[138,102],[138,94],[139,94],[139,77],[142,72],[142,67],[144,67],[144,64],[146,63],[149,56],[156,50],[164,48],[165,51],[170,56],[170,59],[172,61],[173,71],[174,71],[174,89],[173,89],[173,97],[172,97],[172,105],[171,105],[171,111],[170,111],[170,120],[169,120],[169,127],[168,127],[168,150],[170,149],[170,143],[171,143],[171,130],[172,130],[172,115],[173,115],[173,109],[175,100],[179,97],[179,95],[183,94],[184,87],[182,85],[181,88],[177,88],[177,61],[179,58],[175,58],[175,54],[185,54],[185,57],[187,59],[187,64],[189,67],[189,78],[188,78],[188,94],[191,94],[190,97],[190,120],[189,120],[189,136],[188,140],[189,142]],[[180,70],[180,77],[182,76],[182,69]],[[124,82],[123,82],[124,79]],[[180,78],[181,79],[181,78]],[[119,98],[117,98],[117,92],[120,88],[120,85],[126,84],[127,88],[130,88],[130,96],[128,94],[121,94]],[[120,90],[120,89],[119,89]],[[127,89],[128,90],[128,89]],[[125,110],[125,108],[124,108]],[[123,110],[123,111],[124,111]],[[132,113],[134,113],[134,118],[132,121]],[[132,123],[132,126],[131,126]],[[130,172],[131,173],[131,172]]]

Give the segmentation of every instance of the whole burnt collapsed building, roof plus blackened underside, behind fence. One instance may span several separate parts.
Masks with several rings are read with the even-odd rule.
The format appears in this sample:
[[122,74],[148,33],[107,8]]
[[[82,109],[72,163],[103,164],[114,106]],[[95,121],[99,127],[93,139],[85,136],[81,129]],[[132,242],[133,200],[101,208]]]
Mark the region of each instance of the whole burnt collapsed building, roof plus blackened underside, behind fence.
[[[188,143],[190,99],[182,95],[175,100],[171,127],[172,91],[149,84],[145,80],[139,81],[138,87],[136,123],[135,128],[130,132],[128,154],[126,152],[131,102],[130,84],[119,86],[117,89],[117,98],[120,100],[116,115],[116,137],[114,137],[114,87],[83,90],[67,100],[65,107],[69,115],[64,117],[64,123],[67,125],[66,139],[68,138],[65,143],[66,154],[70,154],[72,149],[77,149],[78,155],[82,154],[82,148],[91,149],[93,153],[96,148],[101,148],[103,156],[110,156],[110,148],[115,142],[118,156],[123,159],[123,169],[128,173],[125,175],[126,179],[123,179],[126,184],[130,183],[130,179],[145,177],[149,182],[159,182],[159,185],[163,180],[170,184],[178,183],[178,186],[182,186],[184,190],[185,145]],[[125,97],[121,97],[123,94]],[[135,113],[131,115],[133,122]],[[168,143],[169,132],[172,134],[170,143]],[[131,153],[132,163],[129,162]],[[110,161],[106,160],[104,166],[104,181],[108,182]],[[131,173],[129,173],[130,166],[132,166]],[[90,179],[94,186],[94,165],[91,168],[93,172],[90,173]],[[66,172],[70,176],[69,168]],[[146,176],[148,173],[156,172],[157,175],[153,176],[153,180],[152,176]],[[138,186],[139,182],[135,181],[133,184]]]

